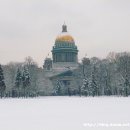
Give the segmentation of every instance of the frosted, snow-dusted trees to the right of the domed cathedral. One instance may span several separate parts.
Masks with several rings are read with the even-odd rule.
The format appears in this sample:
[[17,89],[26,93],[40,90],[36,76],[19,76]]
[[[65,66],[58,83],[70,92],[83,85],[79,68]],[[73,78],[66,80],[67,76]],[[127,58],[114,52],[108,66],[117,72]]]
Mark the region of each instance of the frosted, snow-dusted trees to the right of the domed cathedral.
[[79,72],[81,95],[130,95],[130,53],[113,52],[103,60],[84,57]]

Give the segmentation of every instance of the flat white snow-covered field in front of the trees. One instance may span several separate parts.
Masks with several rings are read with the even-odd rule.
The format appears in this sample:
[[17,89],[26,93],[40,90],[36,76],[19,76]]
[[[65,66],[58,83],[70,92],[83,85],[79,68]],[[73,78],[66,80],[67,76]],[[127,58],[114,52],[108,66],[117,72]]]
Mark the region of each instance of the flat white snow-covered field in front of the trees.
[[128,123],[130,98],[0,99],[0,130],[130,130]]

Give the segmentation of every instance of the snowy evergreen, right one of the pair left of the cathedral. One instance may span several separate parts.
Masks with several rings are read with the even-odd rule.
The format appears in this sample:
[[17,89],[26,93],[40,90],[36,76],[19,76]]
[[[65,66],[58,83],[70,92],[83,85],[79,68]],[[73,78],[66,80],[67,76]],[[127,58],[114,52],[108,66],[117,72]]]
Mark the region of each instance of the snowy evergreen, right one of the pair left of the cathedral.
[[24,96],[26,96],[26,89],[27,89],[27,87],[30,86],[30,83],[31,83],[30,74],[26,67],[24,67],[24,70],[23,70],[22,82],[23,82]]

